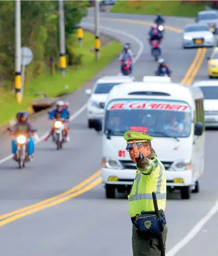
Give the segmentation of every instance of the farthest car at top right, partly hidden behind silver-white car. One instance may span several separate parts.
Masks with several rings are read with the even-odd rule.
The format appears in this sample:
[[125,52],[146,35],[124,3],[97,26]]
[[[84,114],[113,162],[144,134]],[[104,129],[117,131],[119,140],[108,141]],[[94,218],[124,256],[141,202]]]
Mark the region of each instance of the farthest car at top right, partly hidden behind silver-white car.
[[208,25],[211,32],[216,33],[218,28],[218,12],[212,10],[198,12],[195,21],[200,24]]

